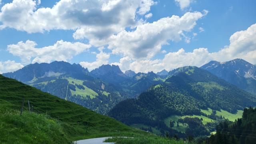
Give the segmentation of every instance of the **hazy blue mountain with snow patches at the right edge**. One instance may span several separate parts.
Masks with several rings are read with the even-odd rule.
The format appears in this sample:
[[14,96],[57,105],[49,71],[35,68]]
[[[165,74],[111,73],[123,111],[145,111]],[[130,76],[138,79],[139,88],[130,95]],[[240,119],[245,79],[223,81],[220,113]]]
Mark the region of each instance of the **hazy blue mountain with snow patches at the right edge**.
[[201,68],[256,95],[256,66],[243,59],[210,61]]

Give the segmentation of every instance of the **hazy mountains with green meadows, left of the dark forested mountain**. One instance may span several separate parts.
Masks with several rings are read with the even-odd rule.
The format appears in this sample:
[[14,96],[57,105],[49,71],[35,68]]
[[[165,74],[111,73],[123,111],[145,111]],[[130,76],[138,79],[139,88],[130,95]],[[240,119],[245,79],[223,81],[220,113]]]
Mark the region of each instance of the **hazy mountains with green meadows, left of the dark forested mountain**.
[[3,75],[101,114],[106,114],[124,99],[136,97],[155,84],[154,81],[159,83],[155,74],[140,73],[129,77],[116,65],[102,65],[89,72],[79,64],[64,61],[34,63]]

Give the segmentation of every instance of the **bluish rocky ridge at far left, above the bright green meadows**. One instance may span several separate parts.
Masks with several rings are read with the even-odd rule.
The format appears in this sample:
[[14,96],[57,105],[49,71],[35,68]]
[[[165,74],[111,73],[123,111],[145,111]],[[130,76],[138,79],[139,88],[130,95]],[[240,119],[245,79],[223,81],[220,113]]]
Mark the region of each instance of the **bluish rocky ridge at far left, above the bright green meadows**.
[[33,83],[44,77],[74,77],[79,79],[92,79],[89,71],[79,64],[70,64],[64,61],[54,61],[52,63],[34,63],[23,67],[13,73],[4,73],[5,77],[11,77],[23,83]]

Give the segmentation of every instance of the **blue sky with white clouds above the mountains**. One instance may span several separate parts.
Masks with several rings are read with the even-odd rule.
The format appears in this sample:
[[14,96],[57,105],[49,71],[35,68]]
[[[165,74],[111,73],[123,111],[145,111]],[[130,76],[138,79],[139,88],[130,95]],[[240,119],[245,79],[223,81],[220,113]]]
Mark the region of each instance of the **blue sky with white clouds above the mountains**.
[[[80,63],[90,70],[116,64],[123,71],[136,72],[200,66],[210,60],[238,57],[256,63],[255,0],[134,0],[138,5],[130,9],[125,5],[128,2],[121,0],[100,12],[95,9],[112,3],[72,1],[2,0],[0,73],[54,60]],[[58,9],[53,8],[55,4]],[[152,16],[146,18],[147,14]],[[180,19],[170,18],[172,15]],[[150,30],[154,30],[152,34]],[[248,34],[251,36],[246,37]],[[20,41],[23,43],[18,44]]]

